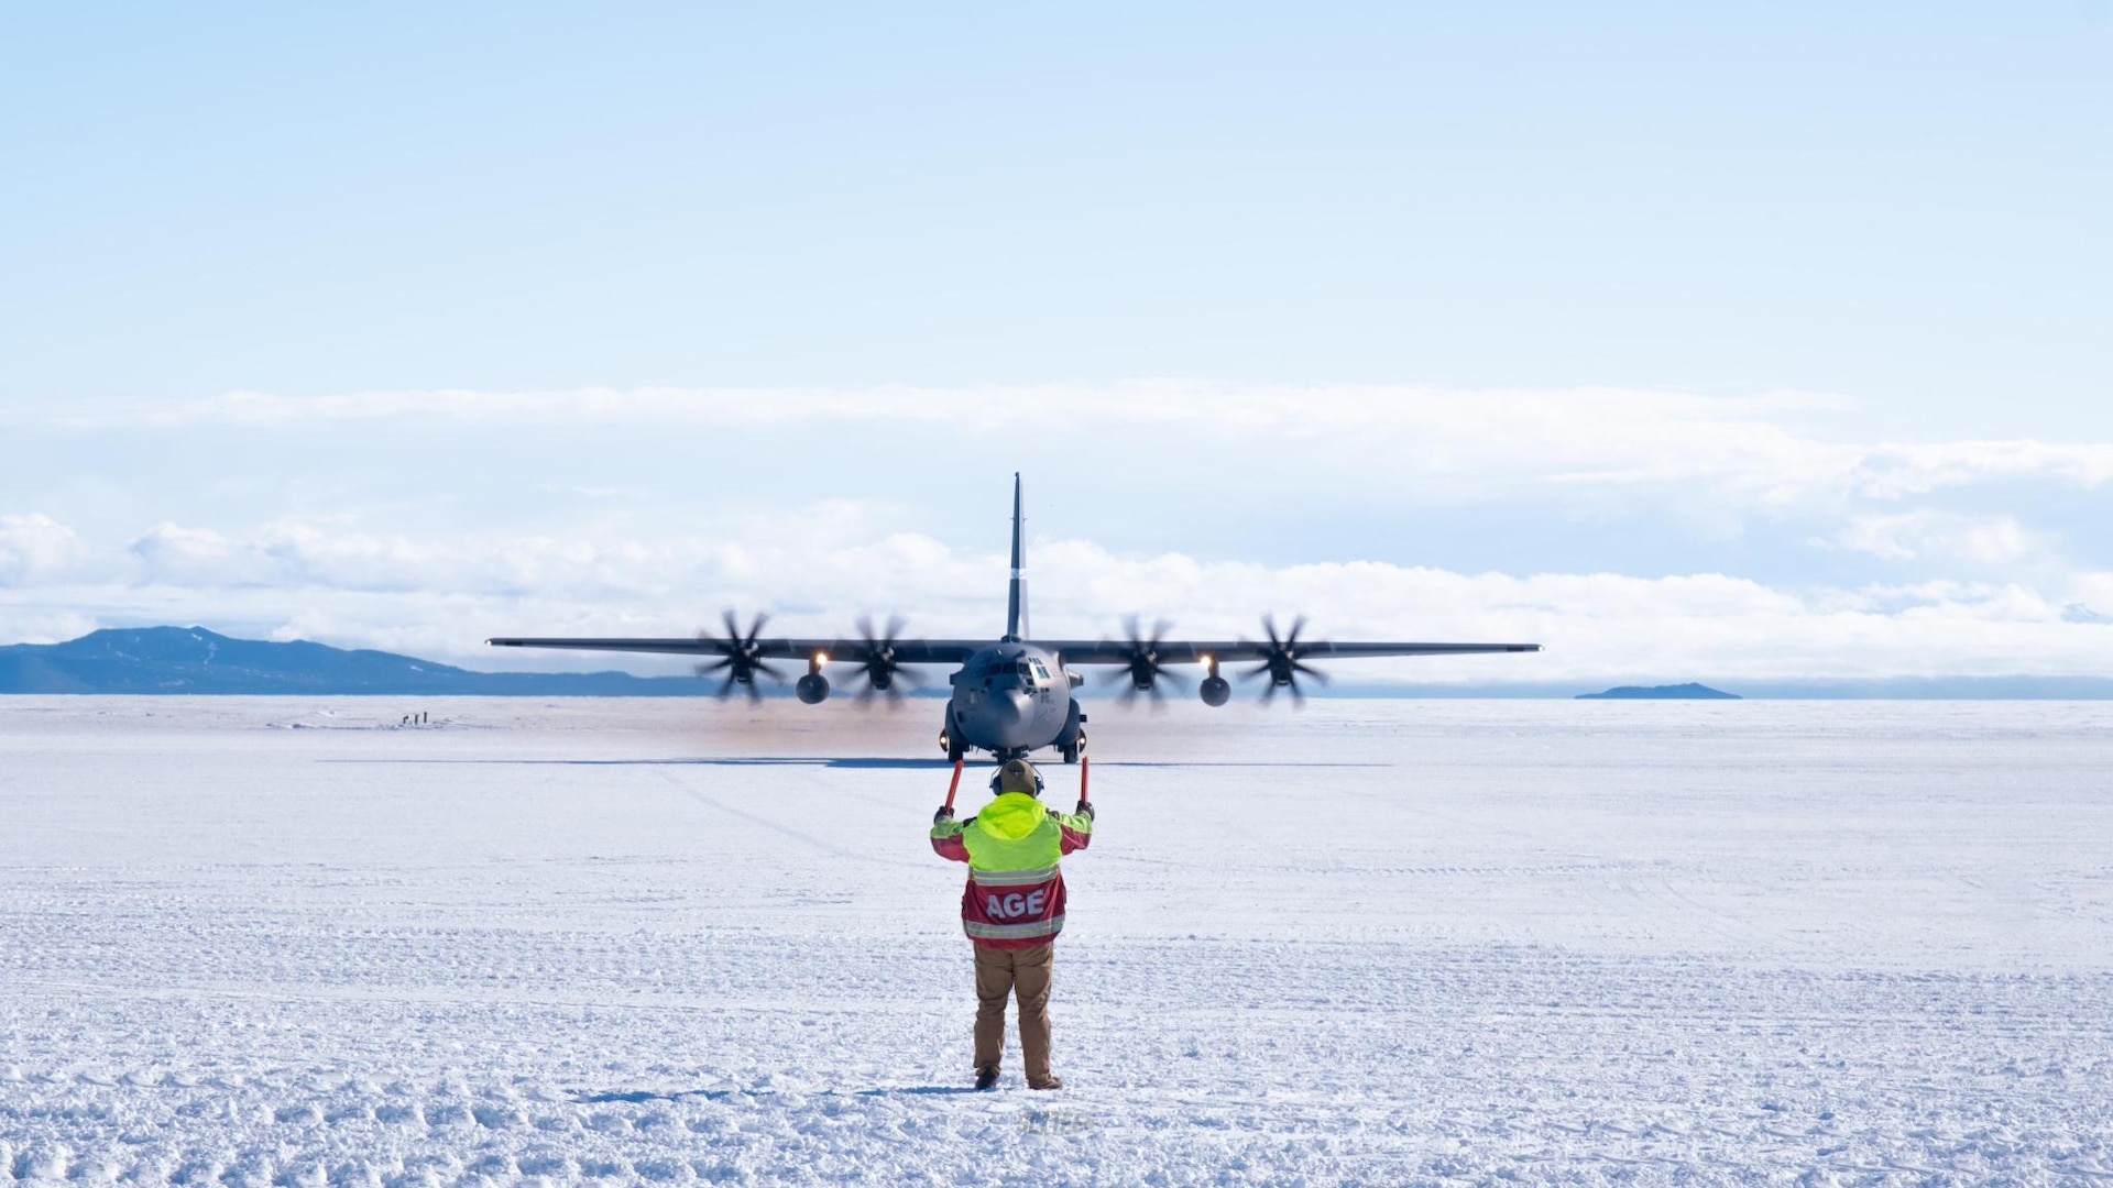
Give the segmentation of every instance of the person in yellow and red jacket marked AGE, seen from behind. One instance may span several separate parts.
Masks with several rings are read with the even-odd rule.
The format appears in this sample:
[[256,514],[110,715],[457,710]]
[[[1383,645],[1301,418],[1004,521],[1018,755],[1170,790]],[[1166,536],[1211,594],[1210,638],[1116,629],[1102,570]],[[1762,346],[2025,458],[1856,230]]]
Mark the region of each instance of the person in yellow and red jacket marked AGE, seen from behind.
[[1050,810],[1042,774],[1025,759],[997,769],[997,799],[966,824],[951,808],[932,818],[940,858],[968,862],[961,930],[976,951],[976,1089],[997,1089],[1006,1051],[1006,996],[1021,1000],[1021,1059],[1027,1089],[1063,1089],[1050,1074],[1050,958],[1063,932],[1063,871],[1056,860],[1092,841],[1092,805]]

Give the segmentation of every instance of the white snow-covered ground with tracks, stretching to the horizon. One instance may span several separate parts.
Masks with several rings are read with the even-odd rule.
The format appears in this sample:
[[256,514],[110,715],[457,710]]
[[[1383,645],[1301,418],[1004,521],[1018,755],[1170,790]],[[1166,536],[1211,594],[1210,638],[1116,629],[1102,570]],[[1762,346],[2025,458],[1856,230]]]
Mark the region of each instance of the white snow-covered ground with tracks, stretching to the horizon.
[[1050,1095],[934,719],[0,700],[0,1182],[2113,1180],[2113,706],[1101,706]]

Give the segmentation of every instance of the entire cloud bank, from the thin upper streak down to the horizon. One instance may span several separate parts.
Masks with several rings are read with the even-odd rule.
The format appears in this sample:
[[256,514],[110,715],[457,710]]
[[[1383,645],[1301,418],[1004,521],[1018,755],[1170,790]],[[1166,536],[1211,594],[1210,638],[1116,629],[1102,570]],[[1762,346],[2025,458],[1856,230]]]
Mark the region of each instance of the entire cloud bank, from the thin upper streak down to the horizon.
[[[2113,672],[2113,444],[1853,442],[1845,402],[1207,383],[404,391],[0,412],[0,636],[203,624],[471,666],[488,634],[1538,641],[1373,681]],[[653,660],[640,672],[680,670]],[[1344,676],[1350,676],[1348,672]]]

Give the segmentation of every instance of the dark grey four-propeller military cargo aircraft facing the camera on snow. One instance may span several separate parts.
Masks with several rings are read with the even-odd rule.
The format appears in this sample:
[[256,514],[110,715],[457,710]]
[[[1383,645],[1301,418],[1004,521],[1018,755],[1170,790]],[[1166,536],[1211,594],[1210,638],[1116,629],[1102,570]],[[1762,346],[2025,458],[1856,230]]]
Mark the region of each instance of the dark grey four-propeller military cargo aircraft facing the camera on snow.
[[1291,630],[1276,634],[1272,617],[1261,619],[1266,641],[1171,641],[1166,624],[1158,624],[1149,636],[1139,630],[1137,619],[1128,619],[1124,641],[1056,641],[1031,638],[1027,634],[1027,567],[1025,567],[1025,520],[1021,518],[1021,476],[1012,476],[1012,590],[1006,600],[1006,634],[993,641],[972,638],[898,638],[902,619],[892,619],[887,630],[875,632],[871,619],[860,621],[858,638],[763,638],[769,615],[756,615],[746,632],[733,611],[725,615],[725,636],[699,632],[697,638],[490,638],[492,647],[564,647],[581,651],[653,651],[680,655],[708,655],[710,664],[699,664],[699,676],[725,672],[718,695],[725,698],[742,687],[750,698],[761,698],[759,676],[784,681],[771,660],[794,660],[807,664],[807,674],[794,681],[792,691],[809,706],[828,700],[830,685],[824,670],[830,664],[856,666],[852,679],[864,679],[862,700],[877,693],[902,695],[902,685],[915,685],[917,674],[906,666],[957,664],[947,676],[953,695],[947,698],[945,721],[938,731],[938,746],[949,759],[961,759],[970,750],[989,750],[997,761],[1023,759],[1033,750],[1054,746],[1065,763],[1078,763],[1086,750],[1086,714],[1080,710],[1073,689],[1086,683],[1080,666],[1120,666],[1111,674],[1126,687],[1124,700],[1149,693],[1164,698],[1162,683],[1181,685],[1183,679],[1168,672],[1171,664],[1200,664],[1202,681],[1198,695],[1207,706],[1223,706],[1232,700],[1232,683],[1221,668],[1230,664],[1253,664],[1242,679],[1266,676],[1261,702],[1272,702],[1283,689],[1293,702],[1304,702],[1299,679],[1327,683],[1327,674],[1306,664],[1308,660],[1352,660],[1369,655],[1462,655],[1479,651],[1540,651],[1538,643],[1327,643],[1304,641],[1306,619],[1299,617]]

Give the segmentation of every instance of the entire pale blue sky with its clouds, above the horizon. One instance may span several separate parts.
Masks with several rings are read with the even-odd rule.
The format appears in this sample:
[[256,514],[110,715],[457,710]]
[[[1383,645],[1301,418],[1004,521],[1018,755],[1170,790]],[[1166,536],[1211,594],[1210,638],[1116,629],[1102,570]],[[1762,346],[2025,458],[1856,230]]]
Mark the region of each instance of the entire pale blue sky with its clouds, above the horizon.
[[2109,78],[2069,0],[13,11],[0,634],[936,628],[1025,469],[1078,630],[2100,670]]

